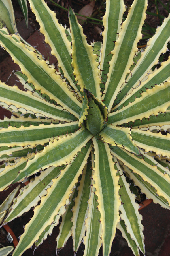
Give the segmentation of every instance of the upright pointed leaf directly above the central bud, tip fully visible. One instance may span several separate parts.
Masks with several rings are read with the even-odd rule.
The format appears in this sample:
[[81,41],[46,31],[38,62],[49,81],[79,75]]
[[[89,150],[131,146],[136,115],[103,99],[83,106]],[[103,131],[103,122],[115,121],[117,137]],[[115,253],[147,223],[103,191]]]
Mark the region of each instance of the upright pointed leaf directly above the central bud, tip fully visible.
[[89,90],[94,96],[100,99],[101,79],[99,78],[99,63],[95,61],[97,55],[93,53],[93,48],[86,42],[86,36],[83,34],[82,26],[77,21],[73,10],[69,7],[69,22],[72,38],[72,63],[75,80],[81,87]]

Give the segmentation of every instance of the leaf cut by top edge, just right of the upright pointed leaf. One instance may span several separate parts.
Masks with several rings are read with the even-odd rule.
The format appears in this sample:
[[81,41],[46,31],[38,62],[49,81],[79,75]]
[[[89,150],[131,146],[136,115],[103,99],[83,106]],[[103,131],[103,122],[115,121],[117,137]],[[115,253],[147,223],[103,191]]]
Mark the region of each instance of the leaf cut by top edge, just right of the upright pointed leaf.
[[[122,23],[123,13],[125,12],[125,5],[123,0],[107,0],[106,12],[103,17],[104,31],[103,47],[101,49],[100,69],[102,83],[107,80],[107,73],[109,72],[109,61],[111,61],[111,51],[114,48],[114,42],[118,38],[118,34],[121,31],[120,25]],[[118,33],[118,34],[117,34]]]

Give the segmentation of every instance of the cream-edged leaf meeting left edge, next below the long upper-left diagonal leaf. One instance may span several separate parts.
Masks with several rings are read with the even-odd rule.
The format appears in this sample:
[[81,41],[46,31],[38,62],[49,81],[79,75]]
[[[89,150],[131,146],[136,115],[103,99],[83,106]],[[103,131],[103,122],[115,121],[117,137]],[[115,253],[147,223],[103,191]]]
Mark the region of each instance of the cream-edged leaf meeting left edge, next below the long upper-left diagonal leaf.
[[[60,121],[71,121],[74,119],[67,110],[63,110],[60,106],[48,103],[42,98],[38,98],[32,92],[24,92],[19,90],[17,86],[8,86],[5,83],[0,83],[0,101],[5,102],[9,106],[13,104],[18,109],[24,108],[25,110],[41,114],[45,117],[59,119]],[[18,99],[22,98],[22,101]]]

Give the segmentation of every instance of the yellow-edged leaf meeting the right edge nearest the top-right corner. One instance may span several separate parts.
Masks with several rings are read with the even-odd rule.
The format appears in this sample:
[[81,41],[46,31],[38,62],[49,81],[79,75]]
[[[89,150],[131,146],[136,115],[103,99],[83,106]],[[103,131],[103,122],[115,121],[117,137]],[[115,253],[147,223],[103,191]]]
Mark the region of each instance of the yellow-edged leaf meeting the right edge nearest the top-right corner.
[[[117,95],[114,105],[118,104],[126,94],[131,92],[131,88],[136,88],[140,81],[148,77],[150,69],[158,63],[158,59],[162,53],[167,51],[167,43],[170,40],[170,15],[164,19],[161,27],[158,27],[155,35],[148,41],[145,51],[137,62],[129,77],[126,79],[127,84],[121,88],[121,92]],[[163,80],[162,80],[163,82]]]

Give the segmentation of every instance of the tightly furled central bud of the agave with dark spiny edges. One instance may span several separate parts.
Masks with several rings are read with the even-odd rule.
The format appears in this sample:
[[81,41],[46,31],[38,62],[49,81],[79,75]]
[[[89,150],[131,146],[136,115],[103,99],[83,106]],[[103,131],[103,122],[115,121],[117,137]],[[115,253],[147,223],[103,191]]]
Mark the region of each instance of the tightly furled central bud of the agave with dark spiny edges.
[[98,134],[107,126],[108,111],[103,102],[84,89],[84,100],[79,125],[85,126],[91,134]]

